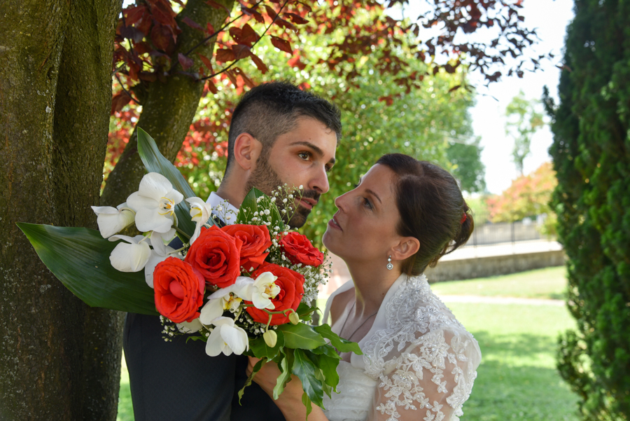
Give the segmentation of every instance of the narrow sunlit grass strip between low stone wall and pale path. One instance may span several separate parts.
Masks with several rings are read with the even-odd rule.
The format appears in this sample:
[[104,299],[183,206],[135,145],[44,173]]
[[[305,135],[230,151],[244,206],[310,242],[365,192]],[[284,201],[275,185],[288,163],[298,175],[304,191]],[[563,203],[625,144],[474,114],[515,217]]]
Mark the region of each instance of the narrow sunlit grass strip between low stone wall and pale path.
[[495,277],[431,284],[435,294],[504,296],[520,298],[554,298],[563,300],[566,294],[566,268],[529,270]]

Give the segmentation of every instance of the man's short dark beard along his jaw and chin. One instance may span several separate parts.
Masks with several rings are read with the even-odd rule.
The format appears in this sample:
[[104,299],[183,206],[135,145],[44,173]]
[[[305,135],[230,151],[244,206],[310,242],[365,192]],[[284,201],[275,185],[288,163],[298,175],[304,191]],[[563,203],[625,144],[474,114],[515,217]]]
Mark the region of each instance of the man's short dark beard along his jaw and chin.
[[[269,156],[263,154],[256,161],[255,170],[251,173],[251,176],[249,177],[249,179],[247,180],[247,184],[245,185],[246,193],[249,192],[253,187],[255,187],[258,188],[258,190],[262,191],[262,193],[271,196],[272,191],[275,188],[278,188],[278,186],[284,186],[283,181],[281,181],[278,174],[276,174],[271,165],[269,165],[269,160],[267,158],[269,158]],[[294,192],[293,195],[295,196],[296,193],[299,196],[298,192]],[[314,190],[306,190],[302,194],[302,198],[309,198],[318,201],[320,195],[320,193],[317,193]],[[282,202],[282,198],[276,198],[276,205],[278,206],[278,209],[285,209],[287,205],[291,205],[295,208],[294,201],[287,201],[287,203],[285,204]],[[306,223],[306,220],[311,213],[311,209],[307,209],[303,206],[297,205],[297,209],[295,209],[295,212],[293,212],[293,216],[291,216],[291,219],[287,221],[286,215],[290,214],[291,212],[293,211],[286,209],[286,213],[282,214],[283,221],[285,223],[288,223],[291,228],[300,228],[304,225],[304,223]]]

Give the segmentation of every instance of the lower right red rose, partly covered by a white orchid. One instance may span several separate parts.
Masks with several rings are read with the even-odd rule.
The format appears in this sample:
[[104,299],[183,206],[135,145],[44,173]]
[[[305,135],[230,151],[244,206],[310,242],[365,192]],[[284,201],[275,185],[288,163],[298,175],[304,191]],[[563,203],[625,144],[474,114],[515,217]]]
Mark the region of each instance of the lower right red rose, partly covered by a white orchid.
[[[295,270],[283,268],[282,266],[275,265],[274,263],[265,263],[260,266],[255,270],[255,272],[253,272],[251,277],[256,279],[262,272],[272,272],[274,276],[278,277],[274,283],[280,287],[278,295],[276,295],[275,298],[272,298],[272,303],[274,303],[275,308],[274,310],[269,311],[283,311],[288,308],[297,310],[297,306],[300,305],[300,301],[302,301],[302,296],[304,295],[304,277],[295,272]],[[246,303],[251,304],[251,302],[248,301]],[[265,312],[265,310],[248,307],[246,311],[256,322],[264,324],[269,322],[269,315]],[[287,313],[287,315],[272,315],[271,326],[288,323],[288,314],[289,313]]]

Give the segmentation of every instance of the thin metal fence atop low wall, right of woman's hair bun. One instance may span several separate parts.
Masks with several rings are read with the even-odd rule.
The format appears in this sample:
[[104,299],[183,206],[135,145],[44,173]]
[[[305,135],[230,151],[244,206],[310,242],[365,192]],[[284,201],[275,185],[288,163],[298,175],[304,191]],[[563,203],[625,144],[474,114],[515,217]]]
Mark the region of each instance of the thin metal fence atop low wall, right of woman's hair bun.
[[475,230],[463,247],[541,240],[540,223],[542,221],[498,222],[475,225]]

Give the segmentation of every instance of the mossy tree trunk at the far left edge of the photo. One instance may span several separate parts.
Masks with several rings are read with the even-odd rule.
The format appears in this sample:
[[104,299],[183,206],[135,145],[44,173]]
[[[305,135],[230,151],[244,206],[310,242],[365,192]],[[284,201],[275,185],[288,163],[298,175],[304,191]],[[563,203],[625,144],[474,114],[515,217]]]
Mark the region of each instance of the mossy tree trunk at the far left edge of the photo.
[[76,419],[78,308],[18,221],[56,223],[52,175],[64,0],[2,4],[0,33],[0,418]]

